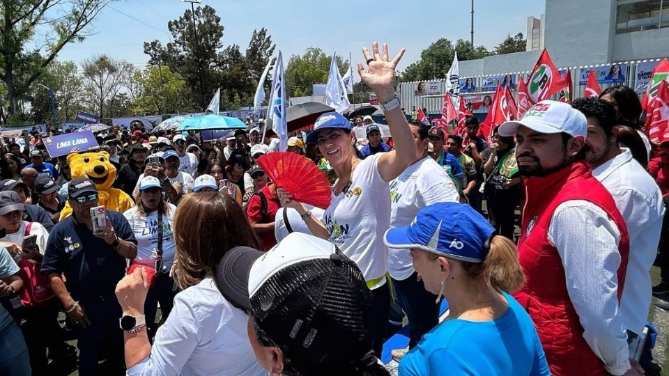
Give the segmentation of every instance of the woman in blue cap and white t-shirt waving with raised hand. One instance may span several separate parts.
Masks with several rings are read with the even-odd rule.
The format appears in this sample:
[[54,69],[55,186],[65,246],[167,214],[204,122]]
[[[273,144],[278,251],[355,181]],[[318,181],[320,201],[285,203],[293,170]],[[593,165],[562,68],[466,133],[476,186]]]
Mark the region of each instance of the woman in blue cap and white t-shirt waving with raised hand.
[[355,132],[344,116],[336,112],[323,113],[307,136],[307,143],[317,143],[321,154],[337,173],[332,188],[332,202],[322,219],[316,219],[302,203],[284,189],[277,189],[283,206],[294,207],[312,234],[337,244],[362,270],[367,287],[373,295],[374,350],[380,354],[390,306],[390,290],[385,279],[387,248],[383,233],[390,228],[390,187],[415,158],[415,142],[400,102],[394,92],[394,72],[404,49],[392,61],[388,47],[379,53],[378,43],[372,52],[362,49],[367,71],[361,63],[357,70],[371,90],[376,93],[385,113],[395,149],[358,159],[355,152]]

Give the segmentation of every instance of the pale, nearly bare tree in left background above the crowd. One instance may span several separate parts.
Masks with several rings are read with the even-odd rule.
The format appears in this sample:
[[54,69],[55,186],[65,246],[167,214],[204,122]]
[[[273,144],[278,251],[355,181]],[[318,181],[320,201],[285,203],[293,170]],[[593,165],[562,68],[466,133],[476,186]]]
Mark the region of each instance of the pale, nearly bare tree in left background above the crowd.
[[[116,95],[128,86],[134,68],[130,63],[107,55],[86,58],[82,63],[84,91],[89,107],[100,118],[105,117],[105,104],[113,102]],[[107,111],[111,117],[112,106]]]

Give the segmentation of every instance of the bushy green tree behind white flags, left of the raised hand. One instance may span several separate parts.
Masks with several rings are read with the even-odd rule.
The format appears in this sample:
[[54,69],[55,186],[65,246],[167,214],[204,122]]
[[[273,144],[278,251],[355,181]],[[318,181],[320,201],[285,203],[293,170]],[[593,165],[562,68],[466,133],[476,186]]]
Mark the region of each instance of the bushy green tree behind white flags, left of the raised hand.
[[[312,95],[314,84],[328,82],[332,55],[325,54],[318,47],[309,47],[302,56],[291,56],[286,64],[286,97]],[[348,61],[337,55],[339,74],[346,72]]]

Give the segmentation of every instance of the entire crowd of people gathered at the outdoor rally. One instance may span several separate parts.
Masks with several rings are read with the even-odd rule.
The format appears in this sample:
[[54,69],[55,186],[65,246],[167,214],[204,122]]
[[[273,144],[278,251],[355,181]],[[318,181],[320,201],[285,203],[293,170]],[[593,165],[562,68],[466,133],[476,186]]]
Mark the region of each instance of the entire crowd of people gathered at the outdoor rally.
[[[410,325],[399,375],[643,374],[652,295],[669,293],[669,133],[649,143],[614,86],[490,140],[475,116],[449,134],[401,109],[403,50],[372,47],[357,68],[390,137],[334,111],[289,134],[328,207],[256,164],[279,150],[262,120],[210,141],[110,127],[109,167],[84,176],[89,155],[49,157],[52,134],[5,140],[0,374],[389,375],[392,306]],[[101,202],[118,203],[102,222]]]

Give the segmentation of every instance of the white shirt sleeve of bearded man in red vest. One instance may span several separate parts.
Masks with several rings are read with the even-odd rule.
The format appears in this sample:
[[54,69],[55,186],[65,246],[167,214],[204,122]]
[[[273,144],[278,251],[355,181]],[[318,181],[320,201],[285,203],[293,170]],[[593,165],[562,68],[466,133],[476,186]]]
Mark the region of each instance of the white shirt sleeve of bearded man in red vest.
[[618,308],[620,232],[615,222],[590,201],[565,201],[553,212],[548,242],[562,259],[567,292],[585,342],[609,373],[622,375],[630,363]]

